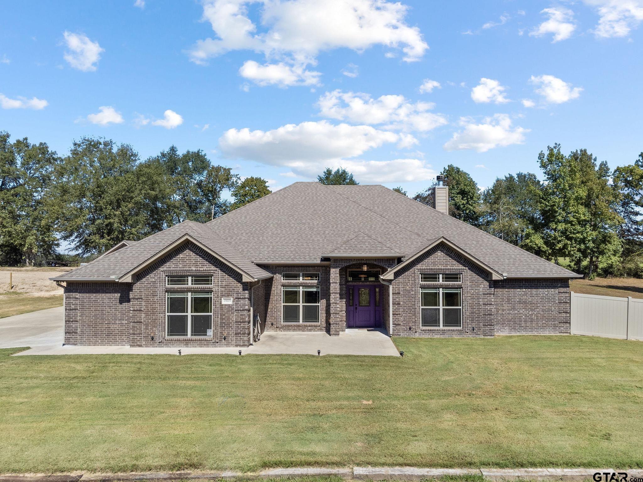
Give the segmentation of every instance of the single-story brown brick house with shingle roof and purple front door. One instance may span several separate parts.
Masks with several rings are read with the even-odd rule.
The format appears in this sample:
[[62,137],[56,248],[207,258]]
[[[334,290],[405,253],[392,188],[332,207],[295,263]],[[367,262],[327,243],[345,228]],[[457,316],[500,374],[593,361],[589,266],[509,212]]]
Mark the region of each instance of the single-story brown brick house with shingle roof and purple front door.
[[65,343],[248,346],[264,331],[570,332],[579,275],[379,185],[294,183],[205,224],[123,241],[51,280]]

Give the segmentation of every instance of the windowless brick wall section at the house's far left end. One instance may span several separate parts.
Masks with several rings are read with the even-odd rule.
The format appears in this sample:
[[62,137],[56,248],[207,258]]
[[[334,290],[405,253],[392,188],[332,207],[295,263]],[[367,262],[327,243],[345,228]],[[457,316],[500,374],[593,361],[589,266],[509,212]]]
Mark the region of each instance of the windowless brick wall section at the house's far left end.
[[67,283],[65,344],[129,344],[129,283]]

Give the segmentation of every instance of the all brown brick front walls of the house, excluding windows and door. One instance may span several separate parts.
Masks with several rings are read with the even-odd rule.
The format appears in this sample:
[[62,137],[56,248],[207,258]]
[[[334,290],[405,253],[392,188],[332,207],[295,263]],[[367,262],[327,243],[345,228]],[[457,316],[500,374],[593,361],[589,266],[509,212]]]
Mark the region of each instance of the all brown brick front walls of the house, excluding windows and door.
[[[346,329],[346,274],[351,266],[388,269],[395,260],[333,260],[331,265],[266,265],[275,273],[253,285],[253,310],[266,331],[325,331]],[[284,272],[320,273],[320,323],[281,322],[282,285],[316,285],[316,281],[282,281]],[[462,328],[421,328],[420,272],[462,273]],[[166,339],[167,274],[212,274],[213,335],[207,339]],[[381,287],[382,321],[388,329],[392,309],[394,335],[421,337],[493,336],[494,334],[559,334],[570,332],[568,280],[489,281],[487,274],[448,247],[436,247],[406,267],[393,281],[393,307],[388,287]],[[446,286],[446,284],[443,284]],[[221,298],[233,299],[222,305]],[[65,343],[131,346],[248,346],[250,343],[248,283],[199,247],[186,244],[136,276],[134,283],[73,283],[65,290]],[[154,337],[154,340],[152,340]],[[224,339],[225,337],[225,339]]]

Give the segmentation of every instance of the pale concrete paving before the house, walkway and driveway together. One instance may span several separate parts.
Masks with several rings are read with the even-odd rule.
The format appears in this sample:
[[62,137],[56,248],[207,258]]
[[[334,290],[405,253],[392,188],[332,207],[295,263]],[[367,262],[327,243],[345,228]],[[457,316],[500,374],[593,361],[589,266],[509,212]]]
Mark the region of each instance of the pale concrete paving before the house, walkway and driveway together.
[[339,336],[320,332],[305,333],[264,333],[253,346],[241,348],[192,348],[190,344],[176,348],[137,348],[130,346],[62,346],[64,332],[62,307],[34,311],[23,315],[0,319],[0,348],[31,346],[30,350],[16,353],[22,355],[82,355],[134,353],[165,353],[182,355],[230,353],[294,355],[385,355],[397,357],[399,353],[390,337],[383,330],[347,330]]

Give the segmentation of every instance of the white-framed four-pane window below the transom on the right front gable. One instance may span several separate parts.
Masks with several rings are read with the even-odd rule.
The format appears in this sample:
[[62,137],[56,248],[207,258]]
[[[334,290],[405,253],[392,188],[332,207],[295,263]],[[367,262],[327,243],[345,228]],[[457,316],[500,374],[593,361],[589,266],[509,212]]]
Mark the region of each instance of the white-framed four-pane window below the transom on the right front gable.
[[422,288],[422,328],[462,328],[462,289]]

